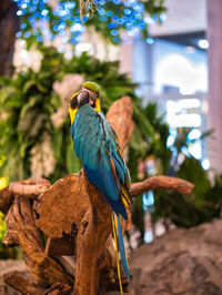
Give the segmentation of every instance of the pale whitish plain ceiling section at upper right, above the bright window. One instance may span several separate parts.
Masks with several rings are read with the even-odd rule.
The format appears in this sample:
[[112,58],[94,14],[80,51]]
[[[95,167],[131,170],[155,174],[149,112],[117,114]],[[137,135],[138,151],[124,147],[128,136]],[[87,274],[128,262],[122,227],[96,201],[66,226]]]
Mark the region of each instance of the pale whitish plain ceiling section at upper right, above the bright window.
[[167,21],[152,24],[153,35],[203,31],[206,28],[206,0],[165,0]]

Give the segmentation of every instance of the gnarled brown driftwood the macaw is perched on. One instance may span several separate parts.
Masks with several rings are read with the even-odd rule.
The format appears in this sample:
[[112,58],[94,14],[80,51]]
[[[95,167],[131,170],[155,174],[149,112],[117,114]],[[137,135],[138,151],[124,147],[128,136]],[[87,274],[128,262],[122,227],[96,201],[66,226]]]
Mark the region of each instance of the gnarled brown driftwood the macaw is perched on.
[[[108,120],[122,150],[133,131],[129,98],[113,103]],[[130,187],[132,197],[155,189],[190,193],[186,181],[154,176]],[[0,191],[0,211],[7,214],[6,245],[24,250],[33,281],[7,274],[4,281],[22,294],[98,294],[119,289],[111,237],[111,210],[84,171],[52,186],[46,180],[11,183]],[[129,213],[130,220],[130,213]],[[127,227],[122,222],[123,232]],[[42,233],[48,237],[44,244]],[[69,255],[71,257],[65,257]],[[123,277],[123,289],[128,282]]]

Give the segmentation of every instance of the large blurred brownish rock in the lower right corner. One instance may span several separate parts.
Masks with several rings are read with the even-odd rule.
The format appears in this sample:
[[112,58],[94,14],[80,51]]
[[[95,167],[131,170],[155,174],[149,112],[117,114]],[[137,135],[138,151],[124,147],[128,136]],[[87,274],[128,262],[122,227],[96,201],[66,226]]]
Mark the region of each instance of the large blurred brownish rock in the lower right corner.
[[130,258],[131,295],[221,295],[222,220],[175,228]]

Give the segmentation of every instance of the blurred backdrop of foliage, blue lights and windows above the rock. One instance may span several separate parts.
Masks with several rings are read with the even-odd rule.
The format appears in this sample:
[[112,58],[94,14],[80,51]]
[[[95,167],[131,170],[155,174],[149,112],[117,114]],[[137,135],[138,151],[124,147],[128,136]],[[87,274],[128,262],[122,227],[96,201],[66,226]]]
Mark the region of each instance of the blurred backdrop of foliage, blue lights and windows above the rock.
[[[1,0],[0,187],[81,169],[67,108],[92,80],[104,113],[132,99],[132,182],[162,174],[195,185],[188,196],[160,190],[134,200],[129,250],[219,218],[221,11],[220,0]],[[3,246],[4,231],[2,214],[0,258],[20,256]]]

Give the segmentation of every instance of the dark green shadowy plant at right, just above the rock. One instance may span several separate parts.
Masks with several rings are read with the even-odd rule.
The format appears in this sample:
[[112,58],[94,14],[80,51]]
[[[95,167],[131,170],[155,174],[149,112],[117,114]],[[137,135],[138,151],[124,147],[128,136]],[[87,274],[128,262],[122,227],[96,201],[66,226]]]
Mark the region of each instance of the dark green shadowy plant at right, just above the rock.
[[169,217],[175,225],[192,227],[210,222],[221,214],[222,176],[215,177],[212,185],[206,172],[194,157],[185,157],[178,176],[194,184],[190,195],[176,192],[157,191],[153,220]]

